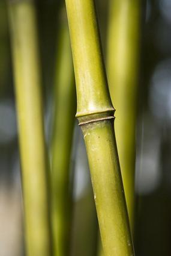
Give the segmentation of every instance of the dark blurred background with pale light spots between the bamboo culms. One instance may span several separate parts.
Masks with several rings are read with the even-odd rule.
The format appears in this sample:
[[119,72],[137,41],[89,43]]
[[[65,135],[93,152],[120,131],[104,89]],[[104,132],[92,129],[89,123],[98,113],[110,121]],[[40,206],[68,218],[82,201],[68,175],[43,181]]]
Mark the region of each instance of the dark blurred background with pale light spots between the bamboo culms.
[[[113,0],[114,1],[114,0]],[[62,1],[37,0],[47,145]],[[96,0],[105,58],[108,1]],[[171,254],[171,2],[142,1],[136,125],[136,227],[138,256]],[[7,3],[0,2],[0,255],[23,256],[24,227],[16,104]],[[74,129],[74,208],[71,255],[97,252],[97,218],[82,134]]]

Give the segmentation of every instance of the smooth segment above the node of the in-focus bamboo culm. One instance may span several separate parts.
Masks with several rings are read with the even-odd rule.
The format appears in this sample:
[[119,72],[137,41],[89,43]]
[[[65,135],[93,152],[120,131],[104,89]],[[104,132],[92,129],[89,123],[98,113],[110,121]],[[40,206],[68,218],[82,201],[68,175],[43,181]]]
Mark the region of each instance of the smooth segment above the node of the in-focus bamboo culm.
[[[66,0],[74,72],[77,86],[77,117],[113,111],[106,89],[93,1]],[[81,46],[81,47],[80,47]]]

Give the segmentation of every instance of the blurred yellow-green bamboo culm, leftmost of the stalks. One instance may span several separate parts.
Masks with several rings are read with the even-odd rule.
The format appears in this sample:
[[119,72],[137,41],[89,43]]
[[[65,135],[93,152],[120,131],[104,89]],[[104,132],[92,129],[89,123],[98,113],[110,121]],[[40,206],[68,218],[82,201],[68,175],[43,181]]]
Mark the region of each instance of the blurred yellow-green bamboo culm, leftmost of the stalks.
[[26,255],[50,256],[47,154],[34,2],[8,1],[25,206]]

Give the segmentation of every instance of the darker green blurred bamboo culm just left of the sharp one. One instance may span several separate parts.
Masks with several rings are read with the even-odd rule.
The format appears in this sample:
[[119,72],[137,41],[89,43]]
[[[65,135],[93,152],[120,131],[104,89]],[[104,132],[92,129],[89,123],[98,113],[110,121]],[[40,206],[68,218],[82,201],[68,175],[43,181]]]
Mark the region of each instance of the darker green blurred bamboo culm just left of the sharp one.
[[62,8],[53,93],[52,228],[54,256],[68,256],[71,231],[71,146],[76,111],[73,60],[66,10]]

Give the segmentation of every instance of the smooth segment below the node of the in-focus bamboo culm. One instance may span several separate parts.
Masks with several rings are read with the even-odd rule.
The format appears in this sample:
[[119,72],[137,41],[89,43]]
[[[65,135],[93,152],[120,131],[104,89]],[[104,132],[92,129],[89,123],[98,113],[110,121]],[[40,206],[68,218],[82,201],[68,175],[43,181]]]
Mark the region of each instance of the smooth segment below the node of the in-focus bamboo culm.
[[133,255],[113,122],[82,126],[104,255]]

